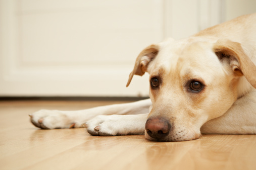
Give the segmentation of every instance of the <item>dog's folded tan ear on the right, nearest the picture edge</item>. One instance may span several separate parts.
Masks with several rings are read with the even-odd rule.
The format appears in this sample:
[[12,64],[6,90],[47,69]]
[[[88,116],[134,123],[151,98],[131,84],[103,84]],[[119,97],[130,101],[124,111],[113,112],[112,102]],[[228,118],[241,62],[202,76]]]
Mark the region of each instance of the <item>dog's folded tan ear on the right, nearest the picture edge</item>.
[[214,46],[215,54],[220,61],[229,61],[235,76],[244,75],[256,88],[256,66],[245,54],[240,43],[230,40],[218,40]]

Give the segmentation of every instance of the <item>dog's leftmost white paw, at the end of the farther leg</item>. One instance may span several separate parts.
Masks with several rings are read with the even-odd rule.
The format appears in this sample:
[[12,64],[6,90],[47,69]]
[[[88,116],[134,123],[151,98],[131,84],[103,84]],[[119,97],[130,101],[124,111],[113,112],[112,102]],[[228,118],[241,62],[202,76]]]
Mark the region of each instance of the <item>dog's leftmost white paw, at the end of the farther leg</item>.
[[29,114],[31,123],[41,129],[73,128],[76,126],[69,117],[58,110],[40,110]]

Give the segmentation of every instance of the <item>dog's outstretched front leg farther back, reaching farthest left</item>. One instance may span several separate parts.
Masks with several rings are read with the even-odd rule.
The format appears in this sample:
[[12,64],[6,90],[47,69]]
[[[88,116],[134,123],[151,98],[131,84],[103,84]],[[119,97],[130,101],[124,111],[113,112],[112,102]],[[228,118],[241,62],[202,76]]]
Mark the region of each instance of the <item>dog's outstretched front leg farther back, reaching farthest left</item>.
[[30,114],[30,121],[41,129],[79,128],[98,115],[125,115],[148,113],[150,99],[138,102],[100,106],[79,111],[40,110]]

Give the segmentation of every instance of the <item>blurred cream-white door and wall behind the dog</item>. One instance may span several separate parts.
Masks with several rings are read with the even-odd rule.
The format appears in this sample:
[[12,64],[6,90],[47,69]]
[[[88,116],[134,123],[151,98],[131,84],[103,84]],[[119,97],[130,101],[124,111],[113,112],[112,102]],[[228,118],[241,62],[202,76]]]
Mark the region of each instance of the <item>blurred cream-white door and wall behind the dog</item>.
[[139,52],[256,12],[255,0],[0,0],[0,97],[147,97]]

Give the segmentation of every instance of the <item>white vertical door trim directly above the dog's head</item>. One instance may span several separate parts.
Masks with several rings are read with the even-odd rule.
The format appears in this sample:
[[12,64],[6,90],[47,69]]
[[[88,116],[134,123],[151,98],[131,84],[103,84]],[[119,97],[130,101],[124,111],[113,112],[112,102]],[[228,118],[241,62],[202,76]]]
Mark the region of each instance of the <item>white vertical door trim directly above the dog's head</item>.
[[164,0],[164,37],[191,36],[225,20],[223,0]]

